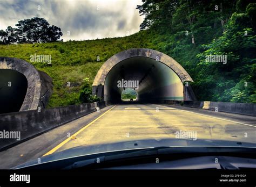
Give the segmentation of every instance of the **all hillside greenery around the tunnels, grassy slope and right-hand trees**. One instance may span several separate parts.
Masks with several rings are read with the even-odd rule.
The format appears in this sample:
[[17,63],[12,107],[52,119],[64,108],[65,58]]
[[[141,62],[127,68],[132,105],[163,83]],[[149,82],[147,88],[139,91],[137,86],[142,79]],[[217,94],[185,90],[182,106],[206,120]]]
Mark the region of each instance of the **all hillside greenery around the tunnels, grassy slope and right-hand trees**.
[[[53,78],[50,107],[80,103],[84,78],[89,77],[91,85],[109,57],[129,48],[151,48],[172,56],[193,78],[198,100],[256,103],[256,4],[250,2],[147,0],[138,6],[145,20],[136,34],[0,45],[0,56],[30,62],[30,55],[51,55],[51,64],[30,62]],[[211,54],[227,55],[227,63],[206,62],[205,56]]]

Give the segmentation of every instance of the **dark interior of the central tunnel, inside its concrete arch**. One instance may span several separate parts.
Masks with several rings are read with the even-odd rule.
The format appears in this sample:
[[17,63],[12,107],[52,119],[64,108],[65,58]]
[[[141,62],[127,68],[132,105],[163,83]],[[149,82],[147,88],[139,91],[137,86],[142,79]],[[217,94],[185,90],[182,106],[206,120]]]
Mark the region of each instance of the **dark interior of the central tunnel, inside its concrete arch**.
[[122,92],[127,88],[123,83],[118,84],[122,80],[123,83],[130,81],[127,85],[137,91],[141,101],[183,100],[183,83],[179,76],[166,64],[149,57],[131,57],[117,63],[106,76],[104,100],[121,101]]

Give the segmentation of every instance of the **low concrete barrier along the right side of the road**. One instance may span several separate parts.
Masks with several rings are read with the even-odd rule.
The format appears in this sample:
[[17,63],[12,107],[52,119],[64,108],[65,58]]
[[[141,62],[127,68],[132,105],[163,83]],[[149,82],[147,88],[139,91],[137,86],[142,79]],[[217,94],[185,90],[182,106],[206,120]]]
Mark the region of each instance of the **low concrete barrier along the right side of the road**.
[[183,105],[205,110],[218,110],[219,112],[229,112],[256,116],[255,103],[228,103],[228,102],[207,102],[207,101],[184,101],[180,100],[163,100],[161,103]]

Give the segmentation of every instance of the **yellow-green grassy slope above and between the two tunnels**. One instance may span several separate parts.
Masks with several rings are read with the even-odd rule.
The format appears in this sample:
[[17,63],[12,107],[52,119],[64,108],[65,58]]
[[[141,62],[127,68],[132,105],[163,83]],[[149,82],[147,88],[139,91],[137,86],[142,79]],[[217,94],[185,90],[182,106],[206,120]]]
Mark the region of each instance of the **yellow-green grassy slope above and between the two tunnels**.
[[[142,31],[129,37],[101,40],[53,42],[46,44],[0,45],[0,56],[17,57],[38,70],[45,71],[53,79],[53,95],[48,107],[78,104],[83,79],[89,77],[92,84],[97,71],[112,55],[129,48],[155,48],[157,41],[149,40],[151,34]],[[30,62],[30,55],[51,55],[51,65]],[[99,61],[97,61],[99,56]],[[70,87],[67,86],[70,82]]]

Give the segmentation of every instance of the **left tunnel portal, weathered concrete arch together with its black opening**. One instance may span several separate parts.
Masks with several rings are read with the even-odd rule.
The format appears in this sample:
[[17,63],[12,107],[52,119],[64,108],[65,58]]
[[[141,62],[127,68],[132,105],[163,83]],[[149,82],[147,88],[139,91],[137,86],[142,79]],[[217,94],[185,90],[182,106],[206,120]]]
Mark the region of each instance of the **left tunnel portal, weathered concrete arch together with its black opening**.
[[52,94],[52,78],[32,64],[0,56],[0,114],[45,108]]

